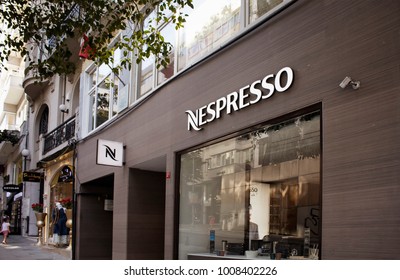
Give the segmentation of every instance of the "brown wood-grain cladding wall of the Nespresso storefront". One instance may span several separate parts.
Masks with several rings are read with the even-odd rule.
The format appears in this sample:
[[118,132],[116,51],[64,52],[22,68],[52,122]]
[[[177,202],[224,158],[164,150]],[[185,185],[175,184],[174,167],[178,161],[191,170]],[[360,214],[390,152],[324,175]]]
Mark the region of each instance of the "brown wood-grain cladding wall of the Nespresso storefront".
[[[322,258],[400,259],[399,15],[399,1],[297,1],[80,143],[77,168],[85,170],[80,181],[110,172],[129,176],[130,167],[166,155],[172,179],[166,184],[164,257],[173,258],[176,153],[320,104]],[[295,71],[290,90],[223,116],[200,132],[187,131],[186,110],[284,66]],[[340,88],[346,76],[361,81],[361,88]],[[97,138],[127,145],[122,170],[93,165]],[[115,186],[120,191],[114,194],[114,215],[133,214],[126,181]],[[114,230],[128,232],[128,220],[114,220]],[[123,252],[134,250],[129,234],[113,238],[114,256],[132,256]]]

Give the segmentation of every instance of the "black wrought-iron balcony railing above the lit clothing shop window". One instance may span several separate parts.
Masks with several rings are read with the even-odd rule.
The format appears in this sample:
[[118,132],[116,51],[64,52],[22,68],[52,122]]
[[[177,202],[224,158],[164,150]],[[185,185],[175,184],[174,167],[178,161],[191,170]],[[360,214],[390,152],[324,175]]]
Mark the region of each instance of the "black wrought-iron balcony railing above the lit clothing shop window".
[[75,116],[65,121],[56,129],[47,133],[44,137],[43,154],[57,148],[61,144],[72,139],[75,135]]

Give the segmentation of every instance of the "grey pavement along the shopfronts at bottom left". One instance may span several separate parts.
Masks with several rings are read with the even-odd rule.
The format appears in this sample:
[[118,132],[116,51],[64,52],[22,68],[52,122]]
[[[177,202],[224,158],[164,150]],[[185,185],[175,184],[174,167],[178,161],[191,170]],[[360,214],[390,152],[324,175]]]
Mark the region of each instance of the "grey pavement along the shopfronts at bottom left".
[[[3,235],[0,235],[1,240]],[[51,245],[37,246],[37,237],[10,235],[8,244],[0,243],[0,260],[70,260],[71,251]]]

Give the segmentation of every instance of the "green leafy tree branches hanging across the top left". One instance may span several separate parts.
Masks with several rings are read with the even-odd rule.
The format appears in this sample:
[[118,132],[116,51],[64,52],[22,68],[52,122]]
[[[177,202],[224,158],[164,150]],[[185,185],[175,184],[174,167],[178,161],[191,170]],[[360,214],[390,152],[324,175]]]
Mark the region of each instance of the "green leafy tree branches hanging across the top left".
[[[192,2],[0,0],[0,66],[4,67],[15,52],[26,58],[28,69],[40,78],[74,73],[78,61],[76,45],[79,49],[83,36],[88,38],[90,59],[98,64],[112,65],[113,53],[122,49],[124,58],[119,67],[131,67],[130,53],[134,53],[133,61],[137,63],[154,55],[158,67],[166,66],[172,47],[159,26],[172,21],[176,29],[182,27],[186,15],[179,8],[193,8]],[[121,30],[122,39],[110,45]]]

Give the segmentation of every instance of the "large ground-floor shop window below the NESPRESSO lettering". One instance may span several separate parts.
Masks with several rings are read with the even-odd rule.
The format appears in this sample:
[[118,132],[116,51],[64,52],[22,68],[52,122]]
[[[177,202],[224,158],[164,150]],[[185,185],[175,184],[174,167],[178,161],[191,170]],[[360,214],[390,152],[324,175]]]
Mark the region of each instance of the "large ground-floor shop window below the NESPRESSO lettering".
[[320,158],[319,112],[182,154],[179,258],[222,240],[228,254],[308,256],[320,243]]

